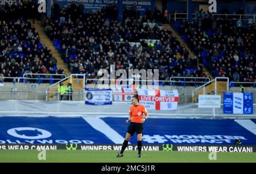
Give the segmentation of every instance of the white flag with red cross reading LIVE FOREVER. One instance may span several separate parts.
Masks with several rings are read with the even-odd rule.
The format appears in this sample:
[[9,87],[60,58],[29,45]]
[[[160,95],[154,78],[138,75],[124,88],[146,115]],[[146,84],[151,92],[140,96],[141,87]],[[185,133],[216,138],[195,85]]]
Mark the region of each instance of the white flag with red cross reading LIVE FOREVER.
[[139,103],[148,110],[176,110],[179,100],[177,90],[142,90],[138,89]]

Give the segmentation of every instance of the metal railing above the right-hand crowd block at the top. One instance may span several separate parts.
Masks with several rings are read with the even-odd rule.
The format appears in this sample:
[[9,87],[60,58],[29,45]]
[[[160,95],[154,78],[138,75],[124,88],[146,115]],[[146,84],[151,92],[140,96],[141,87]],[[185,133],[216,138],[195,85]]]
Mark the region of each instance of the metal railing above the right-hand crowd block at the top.
[[[256,15],[238,15],[238,14],[205,14],[205,15],[210,15],[212,18],[217,17],[217,18],[230,18],[232,20],[241,20],[241,21],[247,21],[248,23],[255,23]],[[168,15],[169,18],[169,23],[171,20],[176,21],[183,21],[183,20],[188,20],[188,14],[187,13],[181,13],[181,12],[176,12],[174,14]],[[199,18],[204,18],[203,14],[196,14],[192,13],[192,20],[197,20]]]

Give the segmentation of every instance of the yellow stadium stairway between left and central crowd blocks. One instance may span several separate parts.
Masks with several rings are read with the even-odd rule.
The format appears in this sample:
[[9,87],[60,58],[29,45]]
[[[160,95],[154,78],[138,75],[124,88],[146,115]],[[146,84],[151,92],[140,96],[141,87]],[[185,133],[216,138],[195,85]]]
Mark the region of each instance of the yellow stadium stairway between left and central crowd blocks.
[[35,21],[35,24],[32,23],[32,20],[28,20],[31,24],[32,27],[35,27],[36,31],[39,34],[40,37],[40,42],[46,46],[47,48],[49,48],[52,52],[53,57],[56,58],[57,60],[57,68],[58,69],[63,69],[65,74],[67,76],[69,76],[71,74],[71,72],[68,69],[67,64],[63,61],[63,59],[60,56],[60,53],[58,52],[58,50],[55,48],[55,46],[53,45],[52,41],[49,40],[49,38],[47,37],[46,33],[44,32],[44,29],[42,27],[41,22],[39,21]]

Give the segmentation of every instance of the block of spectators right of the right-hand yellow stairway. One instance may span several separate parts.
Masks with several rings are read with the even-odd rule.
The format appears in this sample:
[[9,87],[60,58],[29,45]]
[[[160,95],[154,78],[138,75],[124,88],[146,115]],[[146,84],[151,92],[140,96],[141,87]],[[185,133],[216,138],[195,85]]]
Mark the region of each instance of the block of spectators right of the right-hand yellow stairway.
[[255,24],[242,24],[241,20],[234,18],[205,18],[202,22],[185,22],[179,30],[199,62],[213,77],[255,82]]

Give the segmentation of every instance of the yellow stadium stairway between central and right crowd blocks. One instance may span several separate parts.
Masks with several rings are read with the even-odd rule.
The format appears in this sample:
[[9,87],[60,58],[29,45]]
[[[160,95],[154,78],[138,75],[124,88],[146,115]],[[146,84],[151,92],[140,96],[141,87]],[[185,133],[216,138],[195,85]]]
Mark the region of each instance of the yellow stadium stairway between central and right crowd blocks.
[[[170,24],[163,24],[163,28],[171,31],[172,34],[177,37],[177,40],[180,42],[181,45],[184,45],[185,48],[188,50],[189,54],[188,57],[189,58],[194,58],[196,57],[195,53],[192,52],[191,49],[189,49],[188,45],[181,39],[180,35],[170,26]],[[205,75],[209,76],[210,79],[213,79],[212,75],[210,75],[209,71],[205,68],[205,66],[203,65],[203,71],[205,71]]]

